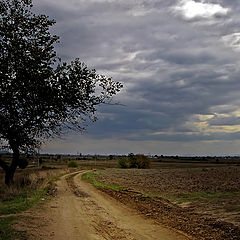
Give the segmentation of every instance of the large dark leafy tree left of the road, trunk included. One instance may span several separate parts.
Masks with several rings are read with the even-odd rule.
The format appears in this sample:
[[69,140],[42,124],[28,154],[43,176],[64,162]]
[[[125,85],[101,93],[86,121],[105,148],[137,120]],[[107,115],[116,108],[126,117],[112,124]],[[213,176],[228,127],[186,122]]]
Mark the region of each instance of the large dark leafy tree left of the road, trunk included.
[[13,151],[5,182],[13,181],[22,151],[60,135],[65,128],[83,130],[96,107],[122,88],[79,59],[61,62],[54,50],[55,23],[35,15],[31,0],[0,2],[0,140]]

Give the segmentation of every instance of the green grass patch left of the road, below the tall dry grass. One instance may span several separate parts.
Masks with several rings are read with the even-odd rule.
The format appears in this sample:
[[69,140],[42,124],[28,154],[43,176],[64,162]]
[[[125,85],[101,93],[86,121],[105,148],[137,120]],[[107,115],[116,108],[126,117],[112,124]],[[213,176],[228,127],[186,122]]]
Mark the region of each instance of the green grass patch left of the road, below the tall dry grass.
[[0,202],[0,214],[12,214],[25,211],[43,198],[47,193],[46,189],[21,193],[11,200]]

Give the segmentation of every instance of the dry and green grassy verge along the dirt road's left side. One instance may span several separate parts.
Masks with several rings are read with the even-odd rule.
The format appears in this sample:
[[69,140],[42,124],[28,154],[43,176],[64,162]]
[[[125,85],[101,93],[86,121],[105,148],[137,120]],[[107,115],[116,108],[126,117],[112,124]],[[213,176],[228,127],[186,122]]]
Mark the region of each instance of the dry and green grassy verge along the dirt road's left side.
[[[67,169],[25,170],[17,172],[15,183],[4,185],[4,175],[0,173],[0,239],[27,239],[23,231],[16,230],[13,225],[21,221],[21,212],[42,204],[55,191],[55,181],[65,174]],[[9,216],[14,214],[14,216]]]

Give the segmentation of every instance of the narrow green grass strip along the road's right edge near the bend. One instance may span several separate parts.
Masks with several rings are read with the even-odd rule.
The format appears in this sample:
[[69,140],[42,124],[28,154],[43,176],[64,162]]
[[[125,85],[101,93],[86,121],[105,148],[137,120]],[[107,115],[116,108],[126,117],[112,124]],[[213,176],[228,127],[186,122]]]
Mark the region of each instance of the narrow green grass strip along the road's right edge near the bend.
[[107,189],[111,189],[114,191],[121,191],[124,189],[124,187],[119,186],[119,185],[115,185],[115,184],[108,184],[108,183],[103,183],[98,181],[97,179],[98,175],[95,173],[85,173],[82,175],[82,179],[83,180],[87,180],[89,182],[91,182],[93,184],[93,186],[98,187],[98,188],[107,188]]

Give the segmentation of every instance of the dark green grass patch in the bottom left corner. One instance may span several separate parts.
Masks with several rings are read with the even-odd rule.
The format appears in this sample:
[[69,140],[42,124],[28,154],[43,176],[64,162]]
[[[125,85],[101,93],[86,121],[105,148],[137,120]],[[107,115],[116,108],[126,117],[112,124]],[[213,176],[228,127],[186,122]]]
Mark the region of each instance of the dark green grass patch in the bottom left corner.
[[26,240],[26,233],[17,231],[12,227],[12,223],[17,217],[0,218],[0,239],[1,240]]

